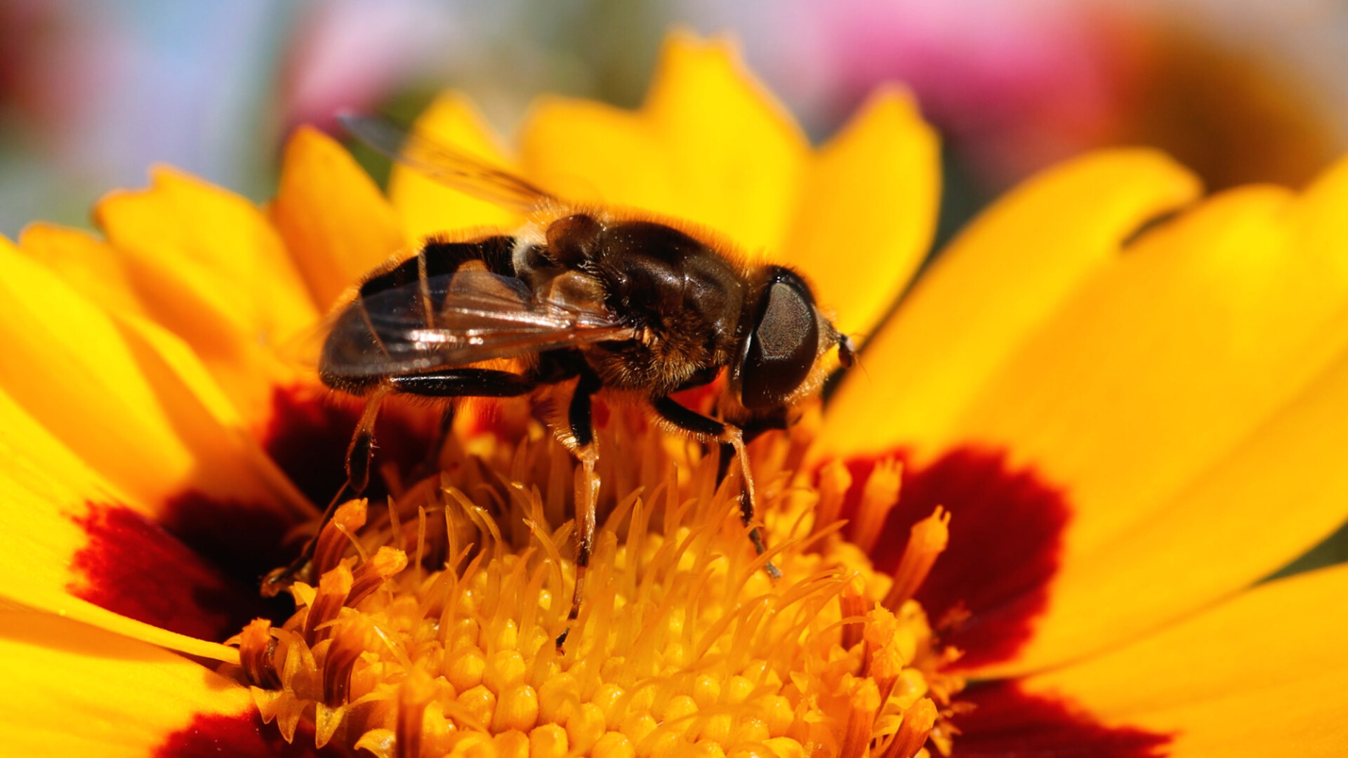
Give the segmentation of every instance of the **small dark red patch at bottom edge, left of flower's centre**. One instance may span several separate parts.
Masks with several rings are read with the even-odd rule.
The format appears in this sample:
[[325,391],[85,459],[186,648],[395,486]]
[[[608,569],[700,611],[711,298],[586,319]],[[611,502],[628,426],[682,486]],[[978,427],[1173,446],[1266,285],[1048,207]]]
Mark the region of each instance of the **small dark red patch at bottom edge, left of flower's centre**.
[[256,711],[237,716],[197,715],[185,728],[151,753],[154,758],[348,758],[355,753],[334,743],[314,747],[313,728],[301,726],[287,743],[275,724],[264,724]]

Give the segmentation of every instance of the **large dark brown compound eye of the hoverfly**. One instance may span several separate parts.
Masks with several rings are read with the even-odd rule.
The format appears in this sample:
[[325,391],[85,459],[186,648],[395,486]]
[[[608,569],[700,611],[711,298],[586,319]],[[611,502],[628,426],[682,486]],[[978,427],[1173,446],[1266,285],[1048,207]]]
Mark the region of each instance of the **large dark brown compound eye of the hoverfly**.
[[805,283],[786,274],[768,285],[740,364],[740,402],[782,405],[810,375],[820,351],[820,322]]

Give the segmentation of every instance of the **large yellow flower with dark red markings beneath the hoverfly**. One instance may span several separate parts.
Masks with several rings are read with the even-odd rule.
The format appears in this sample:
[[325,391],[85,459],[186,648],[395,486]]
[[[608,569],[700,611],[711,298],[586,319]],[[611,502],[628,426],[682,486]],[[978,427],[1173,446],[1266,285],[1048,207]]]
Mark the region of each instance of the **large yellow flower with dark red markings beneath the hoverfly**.
[[[514,154],[456,97],[421,127],[794,264],[859,334],[934,224],[902,93],[813,150],[720,43],[671,39],[635,113],[541,101]],[[0,241],[0,753],[1348,746],[1348,569],[1256,584],[1348,515],[1348,163],[1200,201],[1111,151],[1002,200],[822,415],[752,448],[780,580],[714,461],[615,413],[563,651],[570,464],[527,409],[465,414],[425,480],[433,422],[394,409],[395,507],[344,507],[294,616],[256,596],[356,413],[276,345],[422,235],[512,223],[407,173],[390,194],[302,131],[266,210],[160,169],[102,239]]]

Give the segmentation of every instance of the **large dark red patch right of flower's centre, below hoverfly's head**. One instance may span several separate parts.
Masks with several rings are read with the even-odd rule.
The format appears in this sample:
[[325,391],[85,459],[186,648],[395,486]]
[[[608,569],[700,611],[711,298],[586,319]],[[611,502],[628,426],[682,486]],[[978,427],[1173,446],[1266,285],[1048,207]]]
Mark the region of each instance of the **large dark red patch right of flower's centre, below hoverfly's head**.
[[[842,518],[852,518],[876,463],[891,455],[847,461],[852,488]],[[1030,468],[1011,469],[1007,453],[957,448],[922,467],[905,467],[899,503],[872,550],[876,568],[894,571],[909,530],[936,506],[950,511],[950,542],[917,593],[937,626],[968,611],[942,641],[965,651],[961,666],[1006,661],[1029,641],[1031,620],[1049,600],[1062,531],[1072,508],[1061,488]]]

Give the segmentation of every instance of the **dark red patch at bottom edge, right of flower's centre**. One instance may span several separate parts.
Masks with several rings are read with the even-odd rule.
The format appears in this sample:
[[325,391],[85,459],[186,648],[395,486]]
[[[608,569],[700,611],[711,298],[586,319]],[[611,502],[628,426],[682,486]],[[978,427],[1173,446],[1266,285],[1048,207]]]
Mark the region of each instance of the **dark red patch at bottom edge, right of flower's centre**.
[[1027,695],[1011,681],[975,684],[958,700],[954,758],[1155,758],[1173,735],[1107,727],[1054,697]]

